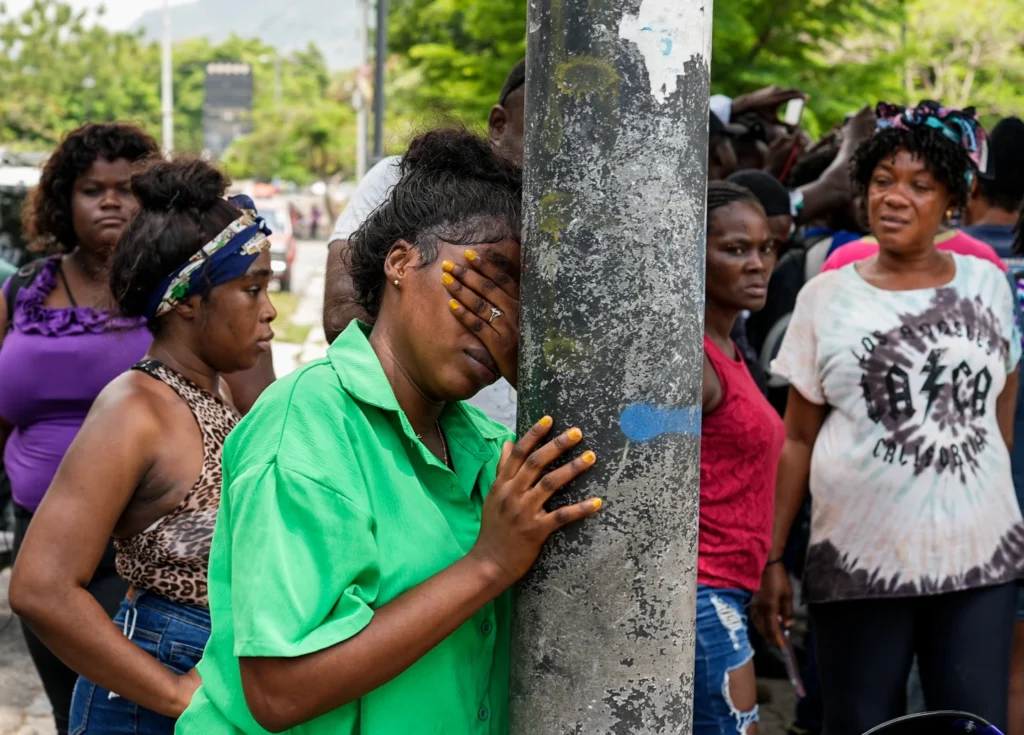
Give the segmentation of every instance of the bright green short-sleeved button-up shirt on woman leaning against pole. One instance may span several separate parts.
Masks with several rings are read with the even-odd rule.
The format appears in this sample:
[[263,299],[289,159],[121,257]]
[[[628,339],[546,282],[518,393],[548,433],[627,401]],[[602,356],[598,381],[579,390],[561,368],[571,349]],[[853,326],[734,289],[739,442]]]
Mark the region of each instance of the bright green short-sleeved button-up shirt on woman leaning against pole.
[[[224,444],[210,554],[213,633],[178,735],[259,733],[240,656],[302,656],[466,555],[509,431],[475,408],[441,417],[455,472],[416,437],[366,328],[278,381]],[[396,679],[289,732],[504,735],[510,595]]]

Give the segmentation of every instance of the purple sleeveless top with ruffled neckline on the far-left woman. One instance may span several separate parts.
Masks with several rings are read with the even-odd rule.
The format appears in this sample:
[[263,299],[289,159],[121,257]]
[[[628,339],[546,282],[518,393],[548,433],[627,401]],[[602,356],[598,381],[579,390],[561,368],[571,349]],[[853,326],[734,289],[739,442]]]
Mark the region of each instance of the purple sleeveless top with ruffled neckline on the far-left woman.
[[14,502],[33,512],[99,391],[152,341],[145,319],[44,306],[57,286],[57,265],[56,258],[46,262],[18,291],[13,329],[0,346],[0,417],[14,427],[4,467]]

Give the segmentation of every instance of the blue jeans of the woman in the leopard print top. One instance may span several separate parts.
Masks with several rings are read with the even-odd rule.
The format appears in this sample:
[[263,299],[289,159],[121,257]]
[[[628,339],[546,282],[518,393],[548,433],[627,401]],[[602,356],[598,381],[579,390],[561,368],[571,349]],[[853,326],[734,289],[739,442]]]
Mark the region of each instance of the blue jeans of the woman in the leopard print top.
[[[187,674],[210,638],[210,611],[137,592],[114,622],[135,645],[178,674]],[[71,735],[173,735],[174,720],[82,679],[71,704]]]

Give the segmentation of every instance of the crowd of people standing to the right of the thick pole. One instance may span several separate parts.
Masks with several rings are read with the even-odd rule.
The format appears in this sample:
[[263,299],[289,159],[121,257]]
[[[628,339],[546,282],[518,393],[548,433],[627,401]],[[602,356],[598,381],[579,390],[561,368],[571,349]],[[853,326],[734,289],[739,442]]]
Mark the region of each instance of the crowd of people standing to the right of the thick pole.
[[771,175],[772,140],[730,173],[712,127],[727,181],[709,188],[694,732],[754,731],[756,646],[792,655],[795,573],[810,620],[794,732],[856,735],[908,706],[1024,732],[1024,125],[988,136],[972,109],[880,103],[837,131],[830,163],[805,154],[825,167],[811,184],[799,159]]

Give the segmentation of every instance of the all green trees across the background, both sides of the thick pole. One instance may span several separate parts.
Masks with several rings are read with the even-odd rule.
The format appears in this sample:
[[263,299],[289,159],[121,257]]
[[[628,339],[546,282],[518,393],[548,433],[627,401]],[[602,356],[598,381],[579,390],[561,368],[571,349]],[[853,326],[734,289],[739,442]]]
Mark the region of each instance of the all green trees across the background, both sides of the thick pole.
[[[879,99],[973,103],[986,123],[1024,114],[1020,0],[728,0],[715,3],[713,91],[768,84],[811,95],[812,133]],[[486,120],[525,53],[527,0],[391,0],[385,143],[399,150],[445,117]],[[86,120],[160,132],[160,48],[112,32],[68,0],[0,4],[0,145],[46,150]],[[237,177],[298,182],[354,169],[354,73],[332,73],[313,46],[279,56],[263,40],[178,43],[175,143],[203,143],[205,67],[254,70],[254,132],[225,165]]]

